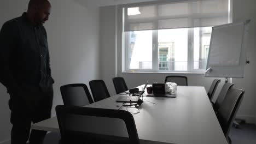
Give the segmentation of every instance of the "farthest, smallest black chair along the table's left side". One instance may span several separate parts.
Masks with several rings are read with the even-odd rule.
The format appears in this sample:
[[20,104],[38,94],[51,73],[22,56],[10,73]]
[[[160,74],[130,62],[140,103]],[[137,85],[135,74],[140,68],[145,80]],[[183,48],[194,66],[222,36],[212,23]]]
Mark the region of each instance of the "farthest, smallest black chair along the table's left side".
[[128,90],[123,77],[114,77],[112,80],[114,83],[115,92],[117,92],[117,94],[123,93]]

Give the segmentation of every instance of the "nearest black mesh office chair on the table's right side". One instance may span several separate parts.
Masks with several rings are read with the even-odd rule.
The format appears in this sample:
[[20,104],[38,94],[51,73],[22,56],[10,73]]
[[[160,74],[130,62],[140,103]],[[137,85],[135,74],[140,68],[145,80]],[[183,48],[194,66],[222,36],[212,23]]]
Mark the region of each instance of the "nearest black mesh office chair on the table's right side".
[[223,133],[226,140],[231,144],[231,139],[229,137],[229,131],[234,122],[236,112],[240,107],[245,91],[242,89],[231,88],[226,94],[225,99],[217,111],[217,118],[219,120],[220,126],[222,127]]

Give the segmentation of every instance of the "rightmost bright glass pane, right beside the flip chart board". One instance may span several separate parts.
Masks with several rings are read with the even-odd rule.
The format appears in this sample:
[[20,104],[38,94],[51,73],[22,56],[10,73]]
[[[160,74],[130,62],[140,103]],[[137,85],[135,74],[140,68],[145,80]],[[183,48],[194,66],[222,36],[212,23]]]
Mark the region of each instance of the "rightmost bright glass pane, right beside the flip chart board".
[[212,27],[194,28],[194,69],[205,69]]

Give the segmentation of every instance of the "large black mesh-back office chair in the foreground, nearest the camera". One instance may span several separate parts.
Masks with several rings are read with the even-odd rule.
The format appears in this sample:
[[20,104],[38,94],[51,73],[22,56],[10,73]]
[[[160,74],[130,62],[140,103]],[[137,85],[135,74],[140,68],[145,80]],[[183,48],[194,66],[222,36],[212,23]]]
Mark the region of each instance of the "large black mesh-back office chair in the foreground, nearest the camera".
[[62,144],[139,143],[130,112],[58,105],[56,115]]

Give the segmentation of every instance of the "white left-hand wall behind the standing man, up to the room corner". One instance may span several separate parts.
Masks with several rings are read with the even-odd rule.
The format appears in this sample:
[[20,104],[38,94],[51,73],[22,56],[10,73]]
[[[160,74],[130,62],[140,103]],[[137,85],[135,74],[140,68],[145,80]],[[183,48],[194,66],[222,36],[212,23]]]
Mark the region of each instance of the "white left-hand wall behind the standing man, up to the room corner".
[[[55,106],[62,103],[60,86],[67,83],[85,83],[99,79],[99,9],[82,7],[72,0],[50,1],[52,5],[48,32],[50,61],[54,83]],[[27,9],[28,0],[2,0],[0,2],[0,27],[18,17]],[[88,85],[89,86],[89,85]],[[0,143],[10,139],[11,124],[8,109],[9,95],[0,84]]]

